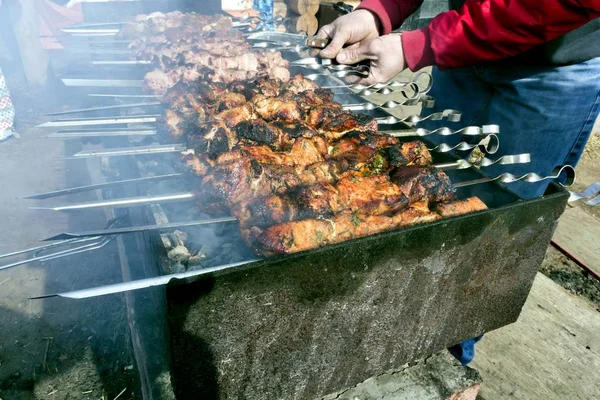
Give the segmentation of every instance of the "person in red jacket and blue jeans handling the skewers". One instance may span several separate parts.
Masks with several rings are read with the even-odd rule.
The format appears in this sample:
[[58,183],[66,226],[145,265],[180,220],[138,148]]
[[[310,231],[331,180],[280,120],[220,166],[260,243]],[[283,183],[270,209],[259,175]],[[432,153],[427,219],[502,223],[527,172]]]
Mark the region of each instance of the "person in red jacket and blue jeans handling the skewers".
[[[428,26],[391,34],[422,3],[362,1],[319,30],[318,38],[331,39],[320,55],[342,64],[370,60],[370,75],[355,80],[362,84],[386,82],[406,68],[433,67],[432,112],[459,110],[463,126],[499,125],[494,157],[531,154],[529,164],[486,168],[490,176],[545,176],[559,165],[575,166],[600,113],[600,0],[458,0]],[[463,139],[434,136],[428,139]],[[547,185],[509,188],[532,199]],[[466,365],[480,338],[449,350]]]

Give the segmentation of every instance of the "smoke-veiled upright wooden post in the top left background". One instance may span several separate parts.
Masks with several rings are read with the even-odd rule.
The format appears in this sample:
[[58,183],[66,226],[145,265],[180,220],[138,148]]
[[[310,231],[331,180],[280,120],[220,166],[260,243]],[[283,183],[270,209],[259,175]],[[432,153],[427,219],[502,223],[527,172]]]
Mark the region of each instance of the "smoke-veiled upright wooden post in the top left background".
[[40,41],[40,19],[36,0],[20,0],[19,18],[14,24],[15,36],[23,61],[23,69],[31,86],[45,86],[50,59]]

